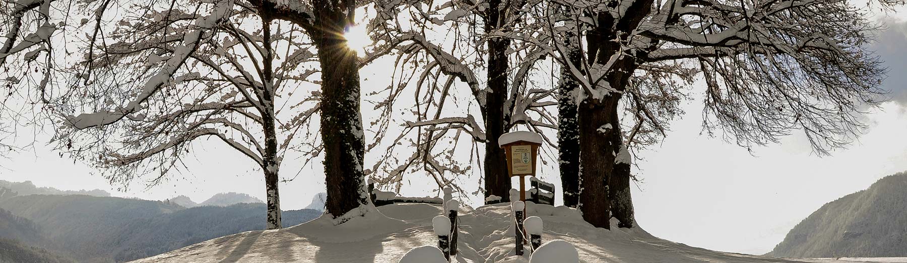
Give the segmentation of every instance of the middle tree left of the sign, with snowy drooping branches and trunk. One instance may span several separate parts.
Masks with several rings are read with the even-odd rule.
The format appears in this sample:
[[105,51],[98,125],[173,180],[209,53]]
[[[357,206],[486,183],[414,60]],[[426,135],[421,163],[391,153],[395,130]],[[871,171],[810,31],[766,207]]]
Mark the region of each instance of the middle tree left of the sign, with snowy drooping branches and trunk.
[[[541,127],[553,128],[555,122],[544,108],[556,104],[550,101],[552,90],[533,89],[528,84],[545,53],[527,42],[502,37],[502,33],[521,24],[522,9],[528,5],[532,3],[494,0],[386,1],[378,5],[384,16],[372,25],[375,38],[397,47],[396,66],[401,69],[399,75],[395,73],[395,85],[388,88],[390,99],[381,106],[390,111],[394,105],[391,102],[401,94],[411,94],[402,91],[410,84],[414,84],[417,98],[413,110],[416,119],[407,121],[404,134],[391,147],[405,141],[408,132],[418,135],[407,145],[416,148],[414,155],[387,164],[387,176],[378,178],[379,182],[399,182],[406,169],[415,167],[424,168],[441,187],[451,184],[451,178],[440,174],[456,176],[465,172],[461,163],[452,160],[454,150],[460,146],[458,140],[468,136],[471,142],[483,143],[485,197],[508,199],[511,179],[498,137],[521,124],[539,131]],[[472,97],[457,98],[458,87],[467,89],[466,94]],[[468,105],[460,107],[467,108],[465,114],[449,115],[450,108],[464,101]],[[473,110],[481,118],[471,114]],[[453,143],[441,142],[444,136],[451,136]],[[478,148],[482,147],[471,145],[470,163],[478,158]],[[434,153],[433,149],[442,150]],[[379,169],[375,166],[375,170]]]

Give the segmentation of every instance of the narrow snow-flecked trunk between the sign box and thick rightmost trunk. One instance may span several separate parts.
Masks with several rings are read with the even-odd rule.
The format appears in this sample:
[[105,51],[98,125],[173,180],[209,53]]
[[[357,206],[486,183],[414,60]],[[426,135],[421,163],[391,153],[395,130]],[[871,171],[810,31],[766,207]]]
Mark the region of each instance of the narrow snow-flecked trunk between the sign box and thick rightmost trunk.
[[[579,68],[582,63],[579,37],[575,33],[566,33],[564,46],[568,49],[568,59]],[[579,87],[570,70],[561,67],[561,81],[558,82],[561,97],[558,99],[558,157],[564,205],[573,208],[580,202],[580,124],[576,105],[576,89]]]

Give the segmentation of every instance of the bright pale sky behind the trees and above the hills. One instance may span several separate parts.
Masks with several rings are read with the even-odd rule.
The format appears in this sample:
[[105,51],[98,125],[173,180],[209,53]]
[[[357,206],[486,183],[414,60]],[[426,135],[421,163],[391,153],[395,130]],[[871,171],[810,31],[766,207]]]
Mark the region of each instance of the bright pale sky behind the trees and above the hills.
[[[907,75],[902,73],[907,71],[907,54],[901,52],[907,23],[889,20],[888,25],[876,49],[892,70],[884,85],[892,89],[894,100],[867,117],[871,127],[858,142],[833,156],[817,157],[805,138],[795,135],[780,145],[756,147],[750,155],[744,148],[700,135],[702,107],[690,102],[664,142],[641,153],[646,160],[634,173],[644,182],[633,193],[639,225],[660,238],[695,247],[762,254],[825,202],[863,190],[885,175],[907,171]],[[363,87],[385,87],[378,83],[383,80],[375,80],[385,76],[384,70],[366,67]],[[39,139],[45,142],[47,137]],[[195,144],[193,153],[195,159],[187,160],[188,173],[151,189],[139,185],[119,192],[86,164],[73,163],[38,144],[34,150],[0,159],[0,180],[32,181],[62,190],[102,189],[149,200],[185,194],[202,202],[225,192],[265,199],[261,174],[244,156],[215,140]],[[282,173],[291,177],[296,171]],[[554,171],[541,178],[560,184]],[[429,193],[431,186],[416,179],[404,194]],[[280,187],[281,207],[301,209],[324,191],[324,175],[312,165]]]

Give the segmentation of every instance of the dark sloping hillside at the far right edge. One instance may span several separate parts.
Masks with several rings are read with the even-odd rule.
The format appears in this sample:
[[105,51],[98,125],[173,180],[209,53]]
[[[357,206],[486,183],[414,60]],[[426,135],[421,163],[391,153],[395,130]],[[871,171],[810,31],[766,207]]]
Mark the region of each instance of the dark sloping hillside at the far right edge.
[[907,173],[825,203],[766,256],[875,258],[907,256]]

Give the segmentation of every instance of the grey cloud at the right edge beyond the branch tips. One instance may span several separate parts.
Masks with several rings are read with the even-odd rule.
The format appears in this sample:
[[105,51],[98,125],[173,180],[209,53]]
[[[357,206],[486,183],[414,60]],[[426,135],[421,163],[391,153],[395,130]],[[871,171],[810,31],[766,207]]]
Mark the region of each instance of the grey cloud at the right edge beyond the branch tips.
[[883,19],[887,28],[877,35],[878,42],[870,47],[884,61],[888,78],[882,83],[891,91],[889,98],[907,105],[907,22]]

